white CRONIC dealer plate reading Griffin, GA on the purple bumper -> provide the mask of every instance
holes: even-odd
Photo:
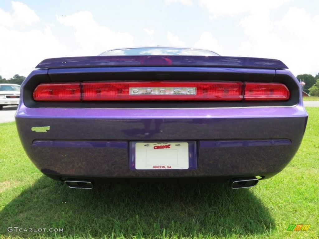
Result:
[[[135,143],[135,169],[189,169],[189,143],[137,142]]]

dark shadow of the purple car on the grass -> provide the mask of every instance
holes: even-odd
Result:
[[[82,190],[42,176],[2,208],[1,235],[262,238],[275,222],[252,190],[208,183],[96,185]],[[9,232],[8,227],[19,228]],[[63,228],[63,232],[55,234],[49,228]]]

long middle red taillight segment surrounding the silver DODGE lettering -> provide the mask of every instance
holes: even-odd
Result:
[[[83,83],[83,100],[241,100],[242,83]]]

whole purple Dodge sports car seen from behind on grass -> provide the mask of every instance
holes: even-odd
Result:
[[[195,179],[245,188],[290,162],[308,114],[281,61],[138,47],[42,61],[15,117],[35,166],[72,188]]]

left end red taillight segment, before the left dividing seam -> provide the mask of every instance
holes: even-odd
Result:
[[[80,101],[80,83],[43,83],[33,91],[37,101]]]

